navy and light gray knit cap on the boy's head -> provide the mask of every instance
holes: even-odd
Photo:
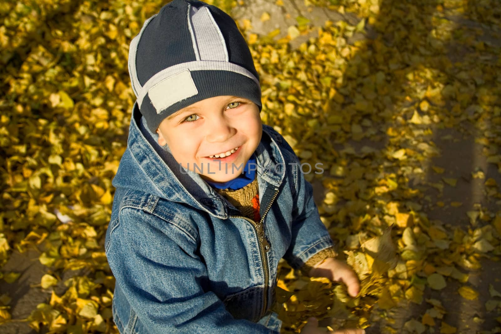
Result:
[[[196,0],[173,0],[144,23],[130,44],[129,75],[152,132],[179,109],[214,96],[262,107],[259,75],[235,22]]]

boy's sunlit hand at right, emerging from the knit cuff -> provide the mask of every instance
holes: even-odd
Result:
[[[348,293],[356,297],[360,291],[360,282],[353,269],[343,261],[328,257],[317,263],[309,273],[310,276],[327,277],[330,280],[343,282],[348,287]]]

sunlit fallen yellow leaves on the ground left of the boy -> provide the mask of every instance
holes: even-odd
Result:
[[[134,102],[128,46],[161,6],[66,0],[0,5],[0,264],[13,249],[40,247],[39,260],[48,268],[32,288],[49,291],[61,285],[65,271],[78,270],[63,296],[53,292],[50,303],[33,310],[34,328],[117,331],[114,280],[102,241]],[[3,279],[13,282],[19,274],[4,272]],[[11,317],[8,298],[0,297],[0,322]]]

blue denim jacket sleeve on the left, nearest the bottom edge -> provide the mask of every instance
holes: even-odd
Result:
[[[150,333],[274,333],[234,319],[202,288],[207,269],[197,242],[182,226],[124,208],[106,247],[108,262],[127,301]]]

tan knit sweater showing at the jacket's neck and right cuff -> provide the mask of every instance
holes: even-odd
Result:
[[[255,178],[254,181],[250,182],[243,188],[237,190],[231,189],[216,189],[220,195],[228,200],[235,208],[240,211],[242,216],[245,216],[249,219],[254,220],[255,222],[259,222],[261,220],[261,216],[259,213],[260,205],[259,205],[259,188],[258,188],[258,179]],[[325,260],[328,257],[336,257],[337,253],[333,247],[329,247],[321,250],[317,254],[313,255],[311,258],[306,261],[306,263],[300,268],[301,272],[304,275],[308,275],[310,270],[315,266],[315,264],[320,261]]]

